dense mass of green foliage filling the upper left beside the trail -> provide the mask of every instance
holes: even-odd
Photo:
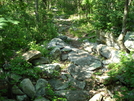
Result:
[[[39,1],[37,22],[34,5],[34,1],[14,0],[0,6],[0,66],[4,58],[10,61],[13,51],[25,51],[31,42],[49,41],[57,36],[52,12],[44,9],[43,2]]]

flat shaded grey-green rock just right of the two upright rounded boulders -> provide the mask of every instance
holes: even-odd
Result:
[[[59,79],[51,79],[49,80],[49,83],[55,90],[64,90],[69,87],[69,82],[65,82]]]

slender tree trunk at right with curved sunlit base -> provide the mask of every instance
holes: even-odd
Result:
[[[122,32],[119,35],[117,42],[118,45],[120,47],[121,50],[124,50],[126,52],[129,52],[128,49],[125,47],[124,45],[124,37],[127,33],[127,28],[126,28],[126,24],[127,24],[127,16],[128,16],[128,5],[129,5],[129,0],[125,1],[125,6],[124,6],[124,15],[123,15],[123,20],[122,20]]]

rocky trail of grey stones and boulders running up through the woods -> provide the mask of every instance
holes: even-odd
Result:
[[[70,19],[58,17],[56,20],[61,34],[52,39],[47,47],[42,47],[50,50],[52,59],[57,61],[50,62],[41,52],[35,50],[24,53],[25,60],[47,75],[36,82],[24,78],[20,87],[14,85],[12,88],[17,100],[2,101],[30,101],[28,98],[34,98],[33,101],[50,101],[46,89],[48,84],[57,96],[65,97],[67,101],[116,101],[113,92],[120,87],[105,85],[105,80],[109,78],[108,64],[120,61],[120,51],[87,40],[79,41],[79,38],[68,33],[72,25]],[[18,80],[20,78],[12,77]]]

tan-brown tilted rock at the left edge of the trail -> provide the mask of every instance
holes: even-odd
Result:
[[[32,61],[34,59],[40,58],[42,56],[40,51],[30,50],[22,55],[25,60]]]

